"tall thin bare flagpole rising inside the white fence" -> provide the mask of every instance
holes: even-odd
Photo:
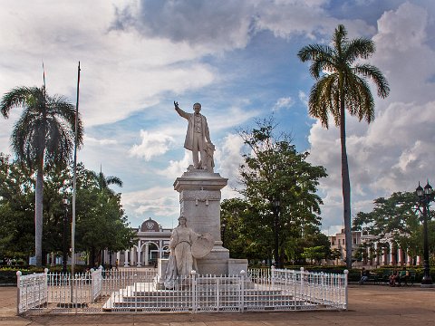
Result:
[[[74,166],[73,166],[73,223],[71,225],[71,274],[74,278],[75,269],[75,193],[77,187],[77,141],[79,124],[79,88],[80,88],[80,62],[77,68],[77,102],[75,105],[75,131],[74,131]],[[72,289],[73,290],[73,289]],[[71,291],[71,301],[73,302],[73,291]]]

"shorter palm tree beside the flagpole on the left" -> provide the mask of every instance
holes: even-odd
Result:
[[[36,265],[42,266],[43,169],[66,164],[72,155],[75,107],[62,96],[47,96],[45,87],[17,87],[0,103],[7,119],[9,111],[23,108],[11,135],[11,147],[18,161],[36,172],[34,206],[34,251]],[[77,126],[78,144],[82,144],[82,122]]]

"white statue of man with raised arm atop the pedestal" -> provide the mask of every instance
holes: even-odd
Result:
[[[213,155],[214,145],[210,140],[210,133],[208,131],[207,119],[199,113],[201,104],[193,104],[194,113],[188,113],[179,109],[179,103],[174,101],[175,110],[179,113],[180,117],[189,121],[186,139],[184,141],[184,148],[192,151],[193,167],[199,169],[210,169],[211,163],[209,154]],[[198,152],[201,160],[199,161]],[[211,160],[213,157],[211,158]],[[210,172],[213,172],[212,170]]]

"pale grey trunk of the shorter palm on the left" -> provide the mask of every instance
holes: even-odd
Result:
[[[34,189],[34,254],[36,266],[43,265],[43,166],[36,171],[36,186]]]

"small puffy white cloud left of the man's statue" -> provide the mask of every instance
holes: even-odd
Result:
[[[163,155],[169,150],[174,139],[158,131],[140,130],[140,145],[133,145],[130,149],[132,156],[150,160],[153,157]]]

